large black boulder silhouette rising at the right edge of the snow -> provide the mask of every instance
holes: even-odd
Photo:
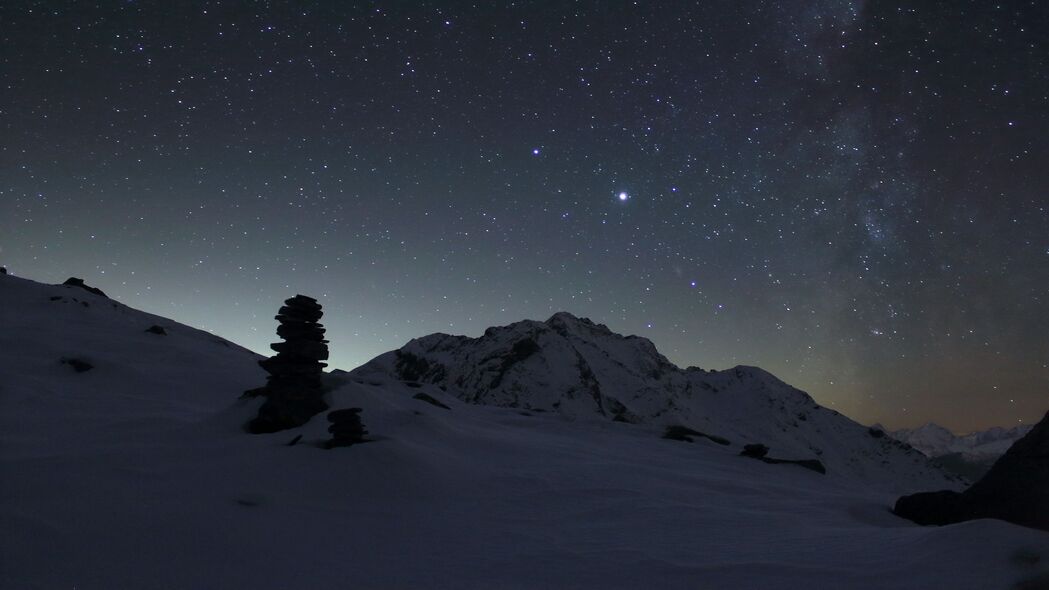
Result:
[[[1049,530],[1049,413],[965,491],[904,496],[893,512],[920,525],[1000,519]]]

